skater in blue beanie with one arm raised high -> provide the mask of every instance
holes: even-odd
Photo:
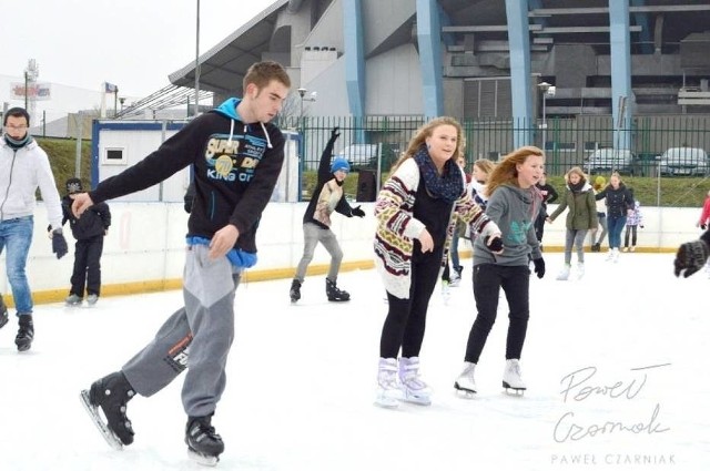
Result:
[[[349,163],[342,157],[333,158],[333,146],[341,135],[338,129],[331,131],[331,139],[321,154],[318,164],[318,181],[313,191],[313,197],[305,214],[303,215],[303,257],[296,268],[296,275],[291,283],[291,303],[301,299],[301,285],[306,276],[308,264],[313,260],[313,254],[318,243],[323,244],[331,254],[331,267],[325,277],[325,295],[329,301],[347,301],[351,299],[349,293],[337,287],[337,273],[343,260],[343,250],[337,243],[337,238],[331,231],[331,214],[341,213],[347,217],[364,217],[365,212],[359,206],[351,207],[345,198],[343,183],[351,171]]]

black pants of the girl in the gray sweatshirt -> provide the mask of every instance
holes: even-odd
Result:
[[[496,321],[500,288],[508,301],[508,339],[506,359],[520,358],[528,330],[530,270],[527,266],[494,264],[474,267],[474,297],[478,315],[468,334],[466,361],[477,364],[486,345],[488,332]]]

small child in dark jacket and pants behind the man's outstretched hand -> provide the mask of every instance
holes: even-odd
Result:
[[[111,225],[111,211],[105,203],[91,206],[81,218],[71,213],[73,199],[70,195],[81,193],[81,180],[67,180],[67,195],[62,198],[62,226],[69,221],[71,233],[77,239],[74,246],[74,272],[71,275],[71,289],[64,300],[67,306],[78,306],[84,298],[93,306],[101,295],[101,254],[103,253],[103,237]]]

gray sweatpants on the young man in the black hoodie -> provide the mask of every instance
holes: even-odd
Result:
[[[213,413],[224,392],[224,369],[234,339],[234,291],[242,272],[226,257],[209,259],[207,252],[204,245],[187,247],[184,307],[122,368],[135,391],[145,397],[186,368],[182,403],[191,417]]]

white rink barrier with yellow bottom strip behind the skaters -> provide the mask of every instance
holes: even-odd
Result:
[[[359,203],[358,203],[359,204]],[[101,296],[124,296],[139,293],[180,289],[184,268],[187,214],[182,202],[144,203],[109,202],[112,225],[104,239],[101,259]],[[245,283],[291,279],[303,254],[302,219],[307,203],[272,203],[260,222],[258,263],[246,272]],[[364,218],[333,215],[332,229],[343,249],[341,272],[371,269],[375,219],[373,203],[363,203]],[[556,205],[550,205],[551,213]],[[638,229],[637,253],[674,253],[678,245],[698,237],[694,226],[700,208],[645,207],[645,228]],[[565,218],[546,224],[545,253],[564,248]],[[60,303],[69,295],[69,278],[73,268],[74,239],[64,226],[69,254],[58,260],[47,237],[47,213],[39,204],[34,214],[34,234],[27,274],[36,304]],[[587,238],[587,243],[588,243]],[[605,239],[601,252],[607,250]],[[589,252],[587,244],[586,250]],[[471,256],[468,242],[459,243],[463,259]],[[4,270],[4,252],[0,255],[0,294],[12,306],[12,296]],[[327,273],[331,257],[318,246],[307,276]]]

